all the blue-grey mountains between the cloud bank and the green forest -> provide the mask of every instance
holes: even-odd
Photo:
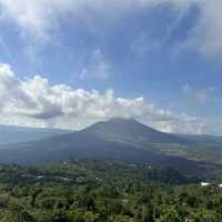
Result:
[[[7,131],[1,128],[4,135],[0,133],[0,142],[1,138],[4,138],[4,143],[8,141],[8,144],[0,145],[1,163],[39,164],[67,159],[112,159],[172,167],[190,174],[222,172],[219,164],[222,163],[222,143],[219,141],[160,132],[131,119],[111,119],[75,132],[27,128],[13,130],[9,128],[11,137],[6,140]],[[16,131],[18,134],[13,138]],[[9,144],[19,140],[23,141]]]

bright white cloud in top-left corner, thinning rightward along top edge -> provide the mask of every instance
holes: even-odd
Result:
[[[50,31],[58,24],[60,17],[71,14],[71,19],[91,22],[115,20],[128,11],[154,2],[153,0],[0,0],[4,19],[12,19],[22,29],[23,34],[38,39],[48,39]]]

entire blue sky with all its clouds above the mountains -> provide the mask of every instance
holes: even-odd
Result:
[[[0,0],[0,124],[132,118],[222,135],[220,0]]]

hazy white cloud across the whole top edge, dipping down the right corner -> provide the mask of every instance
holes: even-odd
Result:
[[[124,17],[162,4],[171,6],[175,13],[196,6],[200,18],[193,21],[194,28],[181,44],[204,56],[222,53],[222,2],[219,0],[0,0],[1,22],[11,19],[21,36],[31,36],[41,42],[47,42],[59,29],[63,17],[73,23],[81,20],[88,29],[93,29],[105,23],[110,27],[110,22],[122,22]]]

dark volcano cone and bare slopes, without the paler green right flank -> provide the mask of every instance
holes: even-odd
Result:
[[[193,144],[192,140],[162,133],[134,120],[113,119],[85,130],[41,141],[1,145],[1,163],[39,164],[72,159],[112,159],[134,163],[147,162],[160,168],[171,167],[189,175],[211,176],[221,167],[179,157],[161,154],[154,143]],[[144,149],[149,147],[149,149]]]

